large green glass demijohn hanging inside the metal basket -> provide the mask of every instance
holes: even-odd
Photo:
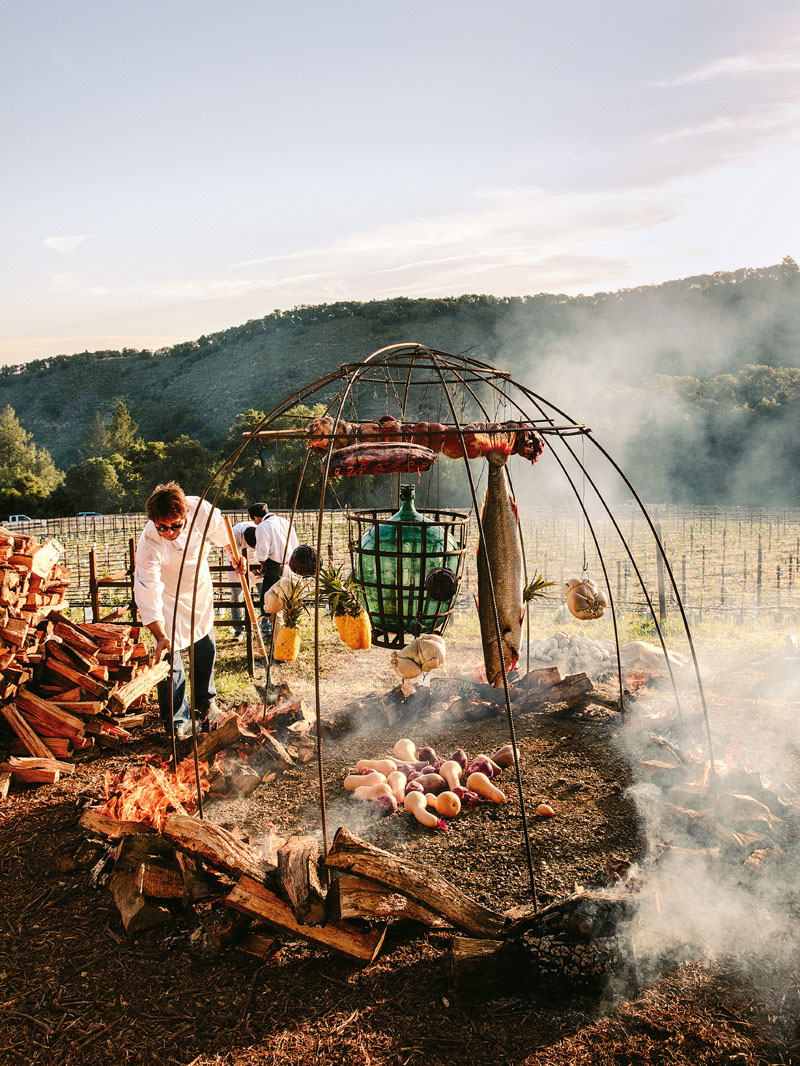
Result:
[[[361,538],[356,580],[372,625],[383,632],[432,633],[443,628],[450,600],[432,599],[425,579],[439,567],[461,569],[459,546],[441,522],[414,506],[414,486],[400,486],[397,514],[373,523]]]

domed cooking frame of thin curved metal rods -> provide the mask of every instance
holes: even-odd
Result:
[[[402,381],[402,372],[405,371],[405,379]],[[299,389],[297,392],[287,397],[279,404],[277,404],[273,409],[265,415],[258,425],[243,434],[242,443],[220,465],[220,467],[214,471],[214,473],[209,479],[206,488],[201,497],[202,500],[208,500],[212,506],[217,505],[222,491],[224,490],[233,471],[236,468],[242,452],[253,440],[290,440],[297,439],[306,441],[307,434],[305,430],[270,430],[269,426],[282,415],[285,415],[290,408],[297,406],[300,403],[314,397],[316,393],[320,393],[324,390],[330,389],[335,386],[336,383],[341,383],[338,391],[334,392],[333,398],[329,401],[325,407],[325,414],[332,414],[334,418],[334,426],[330,434],[330,439],[333,442],[337,435],[337,431],[340,422],[342,421],[342,413],[348,401],[353,402],[353,393],[359,385],[366,384],[379,384],[386,386],[387,398],[388,398],[388,386],[393,387],[396,400],[399,407],[400,420],[404,420],[406,408],[409,405],[409,398],[411,390],[413,388],[434,387],[441,392],[447,406],[449,407],[450,416],[452,419],[452,424],[455,426],[458,432],[459,440],[462,450],[462,461],[466,469],[467,479],[469,482],[469,490],[473,500],[473,506],[475,508],[475,517],[478,526],[479,532],[479,545],[483,550],[483,559],[486,566],[486,571],[489,574],[489,585],[492,601],[492,614],[494,618],[495,631],[498,644],[500,642],[500,625],[497,613],[497,603],[495,599],[494,591],[494,579],[492,576],[492,568],[487,558],[485,537],[483,536],[483,528],[481,522],[481,513],[478,502],[477,489],[475,484],[475,479],[473,477],[469,459],[467,457],[466,442],[464,438],[464,424],[463,420],[459,418],[459,409],[457,405],[457,398],[460,399],[462,410],[464,409],[467,402],[471,403],[474,408],[481,413],[486,421],[492,421],[489,410],[486,409],[484,401],[478,394],[477,389],[479,387],[489,390],[489,394],[493,395],[496,401],[503,404],[511,405],[513,409],[518,413],[518,423],[524,427],[529,427],[535,430],[542,435],[544,439],[545,447],[549,455],[556,461],[558,467],[566,480],[572,494],[580,507],[580,511],[586,522],[586,528],[592,538],[595,550],[597,552],[597,558],[599,560],[601,568],[603,571],[603,577],[606,585],[606,591],[608,594],[609,609],[611,612],[611,620],[614,633],[614,644],[617,647],[617,678],[619,684],[619,709],[624,711],[625,709],[625,690],[622,678],[622,665],[620,662],[620,639],[619,639],[619,628],[618,628],[618,614],[617,604],[614,603],[613,589],[611,587],[611,581],[609,578],[608,569],[606,566],[606,561],[603,554],[603,549],[601,547],[597,531],[590,517],[590,514],[586,506],[586,501],[583,499],[583,494],[576,484],[573,475],[567,469],[566,463],[574,464],[577,468],[578,473],[581,477],[583,485],[589,485],[599,502],[603,511],[610,519],[611,526],[619,537],[619,542],[622,545],[627,559],[630,562],[636,579],[642,589],[650,617],[654,624],[656,634],[658,636],[661,650],[665,656],[667,671],[669,674],[670,685],[672,689],[672,694],[675,700],[676,713],[678,720],[683,724],[683,712],[681,708],[681,698],[677,691],[677,684],[675,681],[675,676],[672,669],[672,663],[667,651],[667,645],[665,642],[663,631],[660,621],[657,617],[656,611],[653,607],[653,601],[647,591],[644,578],[641,572],[641,568],[637,562],[634,551],[625,537],[622,529],[620,528],[619,521],[617,520],[611,505],[602,492],[601,488],[597,486],[595,480],[591,477],[587,466],[583,462],[582,456],[578,455],[571,443],[571,438],[579,436],[582,441],[588,440],[591,446],[596,449],[598,455],[607,463],[614,474],[620,479],[622,484],[630,494],[636,506],[643,516],[650,532],[653,536],[653,542],[656,545],[656,550],[658,556],[663,563],[666,574],[668,575],[669,583],[674,596],[675,602],[677,604],[683,630],[685,637],[688,643],[691,661],[693,665],[694,679],[697,683],[697,691],[700,698],[700,704],[702,707],[706,744],[708,749],[708,761],[709,761],[709,787],[711,789],[711,794],[716,796],[717,794],[717,773],[716,763],[714,757],[714,745],[711,741],[710,731],[710,721],[708,715],[708,708],[705,698],[705,692],[703,688],[703,680],[700,672],[700,664],[698,661],[697,650],[694,647],[694,642],[691,635],[691,629],[689,626],[689,620],[686,615],[686,610],[681,597],[681,593],[675,581],[675,577],[670,565],[667,552],[665,550],[663,544],[659,536],[658,530],[647,513],[647,508],[642,501],[641,497],[637,492],[636,488],[622,470],[620,465],[612,458],[609,452],[595,439],[591,429],[583,423],[576,422],[570,418],[563,410],[557,407],[555,404],[550,403],[548,400],[533,392],[531,389],[514,381],[510,373],[507,371],[497,370],[496,368],[490,366],[489,364],[481,362],[478,359],[468,357],[466,355],[452,355],[447,352],[442,352],[436,349],[428,348],[425,344],[417,342],[401,342],[389,344],[385,348],[379,349],[368,356],[362,362],[346,364],[341,366],[337,371],[329,373],[323,377],[318,378],[315,382],[309,383],[303,388]],[[400,395],[402,391],[402,397]],[[333,448],[329,447],[324,453],[322,463],[322,479],[320,486],[320,501],[317,517],[317,570],[315,575],[315,586],[314,586],[314,667],[315,667],[315,713],[317,722],[317,771],[319,778],[319,802],[320,802],[320,815],[321,815],[321,829],[322,829],[322,847],[324,856],[327,855],[327,815],[326,815],[326,804],[325,804],[325,782],[324,782],[324,760],[323,760],[323,743],[322,743],[322,730],[320,728],[320,680],[319,680],[319,625],[320,625],[320,594],[319,594],[319,575],[320,575],[320,560],[322,555],[322,529],[323,529],[323,517],[325,511],[325,497],[329,485],[329,473],[331,467],[331,456]],[[565,453],[562,454],[561,452]],[[298,510],[298,501],[300,498],[300,491],[305,478],[307,465],[309,457],[311,455],[310,449],[307,450],[306,455],[303,459],[302,469],[300,478],[298,480],[298,486],[294,494],[294,499],[292,502],[291,515],[289,522],[291,526],[294,523],[294,516]],[[565,462],[566,461],[566,462]],[[513,485],[511,483],[511,474],[507,471],[509,475],[509,485],[513,492]],[[398,479],[399,484],[399,479]],[[197,523],[197,516],[199,514],[199,508],[197,508],[192,516],[191,523],[188,530],[188,536],[192,535],[192,532]],[[208,517],[205,519],[202,529],[202,545],[205,546],[208,529],[211,521],[212,512],[209,510]],[[523,551],[523,566],[525,581],[528,581],[527,571],[527,561],[525,559],[525,547],[524,538],[522,535],[522,530],[519,530],[519,544]],[[283,563],[286,563],[286,549],[284,551]],[[178,574],[177,587],[176,587],[176,601],[177,597],[180,595],[181,583],[183,580],[183,560],[181,560],[181,566]],[[194,629],[194,618],[196,613],[196,597],[197,597],[197,581],[198,575],[195,575],[195,579],[192,587],[192,602],[191,602],[191,625],[192,630]],[[527,636],[528,636],[528,667],[530,664],[530,612],[526,612],[527,618]],[[172,632],[171,632],[171,643],[174,645],[175,639],[175,619],[173,620]],[[274,637],[273,637],[274,639]],[[270,644],[271,650],[271,644]],[[525,840],[528,873],[530,877],[531,893],[537,903],[537,890],[535,890],[535,876],[533,872],[533,862],[531,857],[530,839],[528,834],[528,823],[526,815],[525,796],[523,791],[522,776],[519,772],[519,763],[517,758],[517,742],[516,742],[516,728],[514,724],[514,711],[511,704],[511,697],[509,694],[509,678],[507,673],[506,663],[503,657],[500,656],[500,664],[502,672],[502,691],[506,706],[506,714],[509,723],[509,736],[510,742],[514,752],[514,763],[516,772],[516,791],[519,801],[519,810],[522,819],[523,836]],[[270,661],[269,655],[267,662],[265,664],[266,668],[266,680],[267,687],[269,688],[270,679]],[[199,779],[199,764],[197,758],[197,720],[196,720],[196,709],[194,705],[194,652],[193,645],[189,646],[189,676],[190,676],[190,715],[192,721],[192,733],[193,733],[193,756],[194,756],[194,772],[195,772],[195,784],[197,789],[197,808],[199,817],[204,817],[203,812],[203,793]],[[266,700],[265,693],[265,700]],[[172,699],[172,690],[171,690]],[[266,705],[265,705],[266,706]],[[174,724],[172,723],[172,715],[170,716],[172,725],[172,746],[173,746],[173,759],[174,764],[177,765],[177,744],[175,737]]]

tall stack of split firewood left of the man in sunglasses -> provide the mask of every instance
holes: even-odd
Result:
[[[62,552],[52,537],[0,527],[0,795],[12,780],[57,781],[74,772],[76,753],[128,740],[142,722],[135,710],[169,673],[140,627],[66,617]]]

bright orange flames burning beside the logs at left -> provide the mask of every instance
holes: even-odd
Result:
[[[209,788],[209,768],[199,763],[199,781],[204,792]],[[183,759],[176,773],[155,756],[140,765],[128,766],[121,774],[107,773],[103,782],[105,803],[96,808],[123,822],[144,822],[160,830],[170,811],[193,813],[197,807],[194,761]]]

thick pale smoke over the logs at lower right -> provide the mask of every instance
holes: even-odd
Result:
[[[796,966],[800,957],[800,802],[793,784],[798,705],[764,698],[770,677],[767,669],[761,698],[714,704],[716,802],[713,788],[677,780],[679,770],[669,782],[642,779],[627,790],[647,841],[630,928],[645,980],[684,960],[713,959],[757,985],[765,972]],[[707,757],[702,723],[693,733],[674,718],[654,728],[692,760],[689,776],[699,775]],[[678,762],[654,747],[651,736],[635,715],[620,738],[640,777],[641,760]]]

